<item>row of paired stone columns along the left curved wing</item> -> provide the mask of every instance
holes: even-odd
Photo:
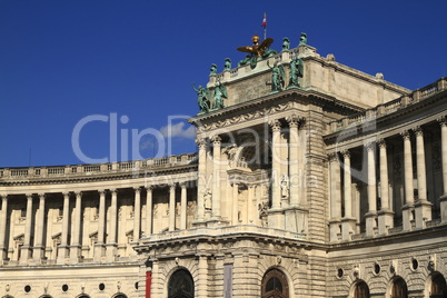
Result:
[[[177,187],[181,189],[180,197],[180,222],[176,226],[176,189]],[[153,201],[152,201],[152,192],[156,186],[146,187],[146,226],[141,226],[141,187],[133,188],[133,242],[138,242],[141,235],[141,229],[145,230],[146,236],[150,236],[152,234],[153,227]],[[96,190],[95,190],[96,191]],[[118,247],[118,193],[120,189],[100,189],[99,193],[99,207],[98,207],[98,236],[95,242],[95,261],[113,261],[117,256],[117,247]],[[81,239],[81,229],[82,225],[86,225],[82,219],[82,200],[87,191],[66,191],[59,192],[63,196],[63,206],[62,206],[62,222],[61,222],[61,232],[60,232],[60,245],[53,249],[58,249],[57,254],[57,262],[66,264],[71,262],[76,264],[79,261],[79,258],[82,254],[82,239]],[[89,190],[88,192],[91,192]],[[106,201],[107,193],[110,192],[110,209],[109,217],[106,217]],[[24,232],[23,232],[23,245],[20,246],[20,265],[28,265],[30,261],[39,262],[44,257],[46,246],[50,245],[46,244],[44,240],[44,231],[46,231],[46,217],[48,213],[46,212],[46,199],[48,195],[38,193],[39,197],[39,206],[33,217],[33,198],[36,193],[27,193],[26,201],[26,218],[24,218]],[[19,195],[19,193],[18,193]],[[54,193],[51,193],[54,195]],[[21,196],[21,195],[19,195]],[[70,218],[70,198],[74,196],[74,208]],[[1,211],[0,211],[0,257],[1,260],[8,257],[8,244],[7,239],[7,229],[8,227],[8,202],[11,200],[12,195],[2,195],[1,199]],[[14,199],[17,196],[14,196]],[[47,208],[48,209],[48,208]],[[11,220],[10,225],[14,225]],[[72,227],[72,230],[69,231],[69,227]],[[32,228],[36,226],[33,232]],[[169,231],[173,231],[177,229],[186,229],[187,227],[187,183],[171,183],[169,185]],[[107,236],[107,238],[106,238]],[[33,241],[32,241],[33,237]],[[69,241],[70,239],[70,241]],[[107,241],[106,241],[107,239]]]

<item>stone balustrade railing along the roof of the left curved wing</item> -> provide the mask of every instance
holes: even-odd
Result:
[[[135,170],[149,170],[152,168],[168,168],[172,166],[186,166],[197,159],[197,153],[185,153],[163,158],[153,158],[135,161],[110,162],[99,165],[69,165],[57,167],[29,167],[29,168],[0,168],[0,179],[30,179],[48,177],[70,177],[86,175],[103,175],[112,172],[126,172]]]

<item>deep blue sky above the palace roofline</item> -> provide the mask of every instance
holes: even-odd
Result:
[[[264,12],[274,49],[306,32],[321,56],[424,87],[447,76],[446,11],[430,0],[1,0],[0,167],[82,163],[71,140],[82,119],[97,119],[79,131],[91,160],[132,159],[136,146],[153,157],[150,132],[169,123],[172,153],[196,151],[181,120],[198,112],[191,83],[206,85],[211,63],[220,72],[225,58],[244,59],[236,48],[262,33]]]

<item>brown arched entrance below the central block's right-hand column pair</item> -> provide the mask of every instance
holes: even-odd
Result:
[[[270,269],[262,278],[261,298],[289,298],[289,284],[286,275],[278,269]]]

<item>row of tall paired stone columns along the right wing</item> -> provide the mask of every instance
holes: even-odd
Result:
[[[447,222],[447,127],[446,118],[438,119],[441,129],[441,172],[444,196],[434,198],[440,200],[441,221]],[[414,135],[415,141],[411,136]],[[420,126],[414,127],[400,132],[403,141],[403,160],[404,160],[404,198],[405,203],[401,207],[403,213],[403,230],[426,228],[427,221],[431,220],[433,203],[427,198],[427,173],[426,173],[426,153],[424,142],[424,131]],[[413,143],[414,142],[414,143]],[[417,182],[414,182],[414,161],[411,148],[416,147],[416,176]],[[376,151],[378,148],[378,160],[376,162]],[[356,234],[356,224],[359,221],[358,203],[356,203],[352,193],[352,175],[351,175],[351,149],[345,149],[339,152],[334,152],[328,156],[329,160],[329,192],[330,192],[330,240],[350,240]],[[388,230],[394,227],[393,198],[389,193],[389,169],[388,169],[388,152],[387,139],[367,140],[364,143],[362,165],[364,173],[356,178],[366,183],[368,211],[365,213],[365,235],[374,237],[377,235],[387,235]],[[339,155],[342,156],[340,162]],[[378,179],[380,188],[377,187],[376,165],[378,166]],[[365,170],[366,169],[366,170]],[[341,185],[340,170],[344,171]],[[359,177],[360,176],[360,177]],[[365,179],[366,178],[366,179]],[[341,187],[344,189],[344,201],[341,202]],[[415,189],[417,190],[415,192]],[[377,210],[377,191],[380,191],[380,210]],[[417,200],[415,200],[417,193]],[[341,209],[344,206],[344,215]],[[357,208],[354,210],[352,206]],[[357,216],[355,213],[358,213]],[[340,237],[341,236],[341,237]]]

